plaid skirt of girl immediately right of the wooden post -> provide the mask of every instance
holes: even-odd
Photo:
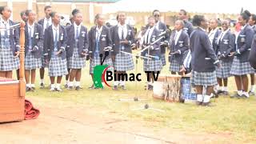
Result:
[[[25,70],[34,70],[42,67],[41,58],[34,58],[34,54],[28,53],[25,57]]]

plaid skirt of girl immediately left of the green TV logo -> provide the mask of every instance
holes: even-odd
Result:
[[[78,54],[78,48],[74,48],[72,57],[67,58],[67,68],[69,69],[82,69],[86,66],[86,57],[82,58]]]

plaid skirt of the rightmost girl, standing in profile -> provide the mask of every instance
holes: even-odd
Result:
[[[254,74],[254,69],[250,66],[249,62],[240,62],[237,57],[234,57],[230,74],[232,75]]]

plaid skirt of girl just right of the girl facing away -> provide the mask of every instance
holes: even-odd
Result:
[[[217,78],[229,78],[231,76],[230,70],[233,62],[223,62],[222,60],[220,60],[219,62],[222,67],[217,68],[216,70]]]

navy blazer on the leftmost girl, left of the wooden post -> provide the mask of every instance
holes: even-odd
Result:
[[[13,26],[17,24],[16,22],[13,22],[9,20],[9,25]],[[1,42],[1,37],[0,37]],[[14,56],[16,55],[15,52],[19,51],[21,46],[19,45],[19,29],[10,29],[10,49],[13,51]]]

